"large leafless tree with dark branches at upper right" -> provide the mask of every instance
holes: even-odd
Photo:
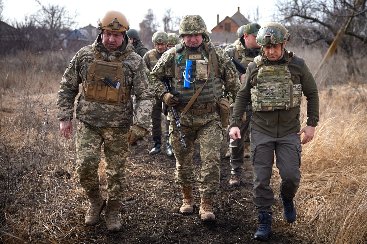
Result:
[[[349,74],[358,72],[355,60],[367,54],[366,0],[278,0],[277,7],[293,40],[327,49],[342,31],[337,50],[349,57]]]

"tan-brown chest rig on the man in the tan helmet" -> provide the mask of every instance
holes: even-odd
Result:
[[[88,69],[87,80],[83,84],[84,100],[100,102],[102,104],[119,105],[130,99],[132,87],[124,85],[124,71],[120,65],[130,53],[116,57],[112,62],[103,61],[102,54],[97,48],[93,48],[96,60]],[[120,87],[107,85],[103,79],[109,77],[113,82],[120,82]]]

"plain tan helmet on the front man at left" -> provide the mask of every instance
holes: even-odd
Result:
[[[102,18],[98,18],[98,30],[109,30],[124,32],[130,29],[129,22],[125,15],[119,11],[107,11]]]

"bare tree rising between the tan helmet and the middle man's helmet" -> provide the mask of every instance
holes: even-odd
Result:
[[[139,23],[139,37],[140,40],[148,49],[153,49],[154,45],[152,43],[152,36],[158,30],[159,23],[157,22],[157,17],[150,8],[148,13],[144,15],[144,19]]]

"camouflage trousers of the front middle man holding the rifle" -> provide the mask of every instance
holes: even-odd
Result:
[[[178,111],[180,113],[180,111]],[[168,115],[170,124],[169,142],[176,158],[176,183],[181,187],[193,185],[195,172],[193,155],[195,142],[200,144],[201,170],[197,177],[200,184],[200,198],[214,198],[219,187],[219,152],[222,146],[223,131],[217,112],[200,116],[186,113],[180,118],[182,134],[185,135],[187,149],[183,149],[175,121]]]

